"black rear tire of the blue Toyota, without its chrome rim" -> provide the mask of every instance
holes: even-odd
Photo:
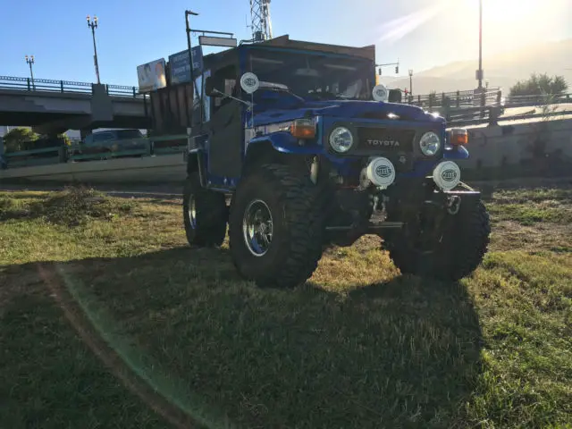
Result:
[[[182,213],[189,244],[205,247],[223,244],[228,220],[224,194],[203,188],[198,172],[192,172],[184,183],[182,198]],[[195,226],[191,223],[189,214],[190,198],[195,198]]]

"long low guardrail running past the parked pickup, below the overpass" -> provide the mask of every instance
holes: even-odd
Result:
[[[186,134],[178,134],[145,139],[113,140],[102,145],[72,144],[71,146],[6,152],[2,156],[5,163],[3,168],[99,161],[119,157],[180,154],[187,147],[187,138]],[[128,143],[135,148],[123,148]]]

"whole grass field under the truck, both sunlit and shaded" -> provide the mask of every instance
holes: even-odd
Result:
[[[297,290],[189,248],[178,201],[87,197],[0,193],[0,427],[572,427],[570,189],[495,191],[462,282],[368,236]]]

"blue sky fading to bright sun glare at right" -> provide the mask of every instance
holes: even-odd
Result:
[[[572,0],[483,0],[484,56],[572,38]],[[137,66],[186,47],[191,27],[250,38],[249,0],[19,0],[0,7],[0,75],[96,81],[86,15],[97,15],[103,83],[137,85]],[[400,75],[457,60],[478,64],[478,0],[272,0],[273,36],[376,46],[377,63],[400,61]],[[8,40],[10,42],[8,42]],[[193,38],[193,44],[197,44]],[[205,53],[213,48],[206,47]],[[392,67],[383,75],[395,76]]]

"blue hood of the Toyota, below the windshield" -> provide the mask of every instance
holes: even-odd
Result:
[[[255,104],[257,102],[255,101]],[[255,125],[286,122],[307,116],[332,116],[348,119],[389,119],[388,114],[399,116],[401,121],[445,122],[441,116],[425,112],[416,105],[383,103],[361,100],[297,101],[290,104],[265,103],[255,106]]]

